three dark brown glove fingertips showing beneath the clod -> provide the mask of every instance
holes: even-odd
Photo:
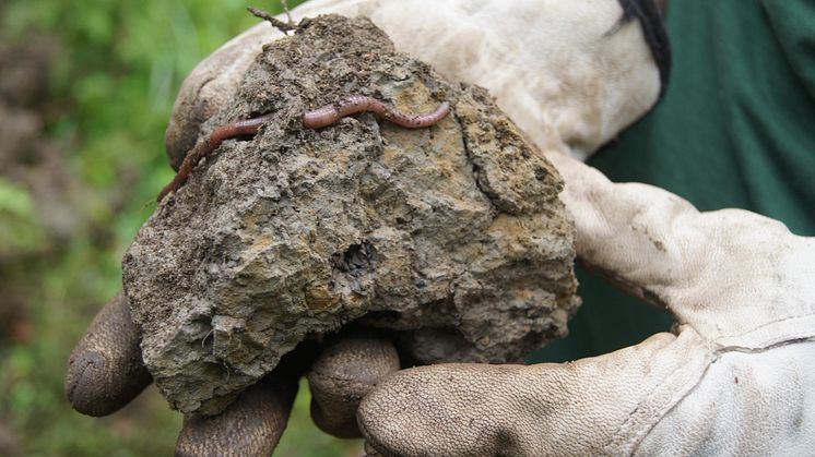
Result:
[[[119,292],[99,311],[69,359],[66,394],[78,411],[110,414],[152,382],[139,341],[139,329]],[[399,370],[399,358],[390,341],[364,333],[345,332],[329,342],[316,359],[308,347],[287,354],[221,414],[186,417],[176,455],[270,455],[307,369],[315,422],[336,436],[359,436],[355,419],[359,400]]]

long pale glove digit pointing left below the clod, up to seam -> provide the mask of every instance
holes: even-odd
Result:
[[[401,371],[359,406],[382,456],[629,455],[701,377],[696,334],[572,363]]]

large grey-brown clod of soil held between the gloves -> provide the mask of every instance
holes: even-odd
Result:
[[[408,112],[304,130],[341,97]],[[355,323],[409,363],[513,362],[579,305],[563,182],[479,87],[395,52],[369,21],[321,16],[267,45],[204,124],[260,113],[165,199],[125,256],[144,362],[174,408],[217,413],[300,341]]]

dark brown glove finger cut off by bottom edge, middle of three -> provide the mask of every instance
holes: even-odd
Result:
[[[185,418],[177,456],[269,456],[286,428],[300,372],[275,370],[218,416]]]

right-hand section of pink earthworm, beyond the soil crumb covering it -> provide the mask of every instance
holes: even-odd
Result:
[[[317,108],[314,111],[306,112],[303,115],[303,127],[306,129],[320,129],[331,125],[346,116],[364,111],[375,112],[380,118],[408,129],[421,129],[445,119],[450,112],[450,104],[445,101],[435,111],[426,115],[408,115],[376,98],[364,95],[352,95],[333,104]]]

